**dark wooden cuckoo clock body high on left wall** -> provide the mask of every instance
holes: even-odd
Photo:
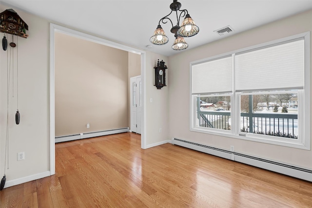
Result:
[[[0,32],[27,38],[28,25],[13,9],[7,9],[0,13]]]

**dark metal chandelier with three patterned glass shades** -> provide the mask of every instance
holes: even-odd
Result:
[[[172,28],[170,32],[175,34],[176,40],[172,45],[172,49],[174,50],[183,50],[186,49],[189,45],[185,42],[185,37],[192,37],[195,36],[199,32],[199,28],[195,25],[195,22],[190,17],[189,12],[186,9],[180,10],[181,3],[174,0],[173,3],[170,4],[171,13],[176,12],[176,26],[174,26],[171,19],[168,18],[169,15],[161,18],[158,22],[158,26],[154,32],[154,35],[150,38],[151,43],[156,45],[163,45],[169,41],[169,38],[165,35],[164,30],[160,26],[160,22],[167,23],[168,20],[172,24]],[[178,11],[180,14],[178,14]],[[179,26],[180,18],[184,18],[181,26]]]

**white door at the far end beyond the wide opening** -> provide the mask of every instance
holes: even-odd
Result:
[[[141,76],[130,78],[130,131],[141,133],[142,118],[142,85]]]

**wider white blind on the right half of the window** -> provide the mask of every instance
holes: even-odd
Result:
[[[304,39],[235,56],[236,90],[304,87]]]

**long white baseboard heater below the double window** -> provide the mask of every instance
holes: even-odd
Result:
[[[173,138],[172,144],[312,182],[312,170]]]

